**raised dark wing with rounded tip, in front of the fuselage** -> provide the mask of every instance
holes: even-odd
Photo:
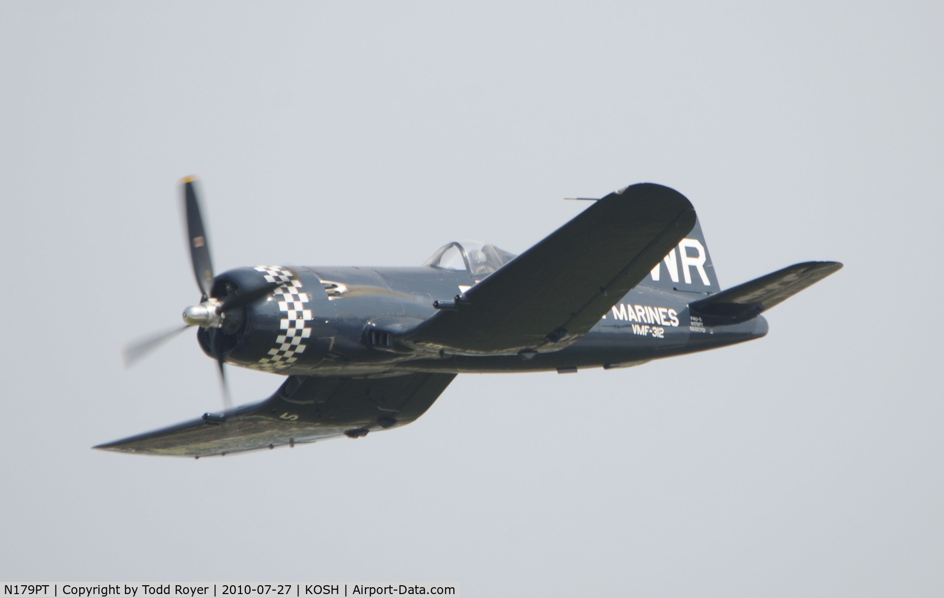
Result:
[[[467,355],[563,349],[639,284],[695,219],[683,194],[662,185],[610,193],[403,341]]]

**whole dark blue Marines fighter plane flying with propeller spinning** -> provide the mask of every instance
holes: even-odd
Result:
[[[95,448],[226,455],[410,424],[456,374],[625,368],[767,334],[761,313],[842,267],[810,261],[721,291],[691,203],[642,183],[614,191],[520,256],[451,242],[422,266],[256,266],[214,275],[183,180],[202,297],[186,325],[126,350],[133,361],[194,326],[227,408]],[[232,408],[225,364],[280,374]]]

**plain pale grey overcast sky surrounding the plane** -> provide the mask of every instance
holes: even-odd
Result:
[[[940,3],[0,5],[0,573],[428,581],[468,596],[944,592]],[[220,407],[177,180],[217,270],[520,252],[682,191],[722,287],[846,264],[766,339],[461,375],[363,440],[93,444]],[[230,368],[237,402],[271,374]]]

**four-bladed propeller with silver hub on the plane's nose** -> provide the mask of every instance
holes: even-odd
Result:
[[[222,297],[214,297],[213,291],[213,264],[210,258],[210,244],[207,242],[207,233],[203,228],[203,217],[200,215],[200,204],[196,199],[194,189],[195,176],[184,178],[183,185],[184,210],[187,217],[187,240],[190,246],[190,257],[194,262],[194,276],[196,285],[200,289],[199,305],[190,306],[183,310],[182,327],[161,332],[146,337],[141,341],[128,344],[125,348],[125,365],[130,366],[142,357],[157,349],[165,341],[177,336],[191,326],[200,326],[207,331],[211,356],[219,366],[220,384],[223,388],[223,405],[227,409],[232,407],[227,385],[227,374],[224,367],[226,350],[223,347],[223,324],[228,312],[245,307],[262,297],[275,291],[283,283],[266,283],[256,289],[236,291]]]

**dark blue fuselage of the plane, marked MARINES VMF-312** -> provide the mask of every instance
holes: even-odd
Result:
[[[703,299],[704,292],[666,290],[665,285],[644,282],[589,333],[559,351],[531,358],[455,355],[399,346],[382,335],[396,337],[396,330],[422,323],[437,312],[434,301],[449,301],[480,282],[467,271],[433,266],[238,268],[220,274],[214,289],[251,288],[261,277],[280,272],[290,273],[295,281],[288,291],[278,291],[231,317],[228,363],[277,374],[325,376],[572,372],[628,367],[767,334],[762,316],[736,324],[706,322],[688,307]],[[201,344],[207,350],[205,337]]]

